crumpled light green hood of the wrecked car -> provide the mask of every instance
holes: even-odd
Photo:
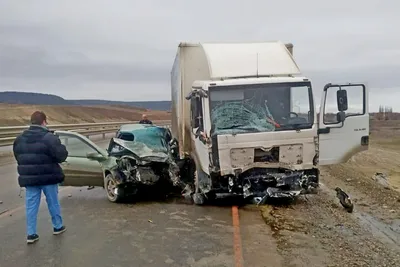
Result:
[[[150,147],[142,142],[125,141],[115,137],[113,141],[131,152],[134,158],[141,161],[170,162],[172,160],[164,144]]]

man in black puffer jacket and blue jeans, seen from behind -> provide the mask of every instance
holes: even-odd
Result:
[[[18,183],[26,188],[27,243],[39,240],[36,232],[37,215],[42,191],[53,223],[53,234],[65,232],[58,201],[58,184],[64,181],[59,165],[66,160],[68,151],[60,139],[46,127],[43,112],[31,116],[31,126],[19,135],[13,145],[14,157],[18,164]]]

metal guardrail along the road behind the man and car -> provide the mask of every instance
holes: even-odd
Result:
[[[121,125],[138,123],[139,121],[124,122],[103,122],[103,123],[81,123],[81,124],[58,124],[48,125],[50,130],[67,130],[78,132],[87,137],[92,135],[105,134],[115,132]],[[170,124],[169,120],[153,121],[155,125],[166,126]],[[7,126],[0,127],[0,147],[11,146],[15,138],[29,126]]]

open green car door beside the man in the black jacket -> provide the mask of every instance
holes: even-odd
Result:
[[[78,133],[56,131],[55,134],[68,151],[66,161],[61,163],[65,174],[62,185],[103,186],[103,169],[98,159],[106,160],[106,152]],[[88,158],[88,155],[92,155],[92,158]]]

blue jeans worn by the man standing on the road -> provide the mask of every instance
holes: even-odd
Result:
[[[27,186],[26,187],[26,225],[27,234],[33,235],[36,233],[37,215],[39,212],[40,198],[42,190],[46,196],[47,207],[51,215],[53,228],[61,228],[63,226],[61,217],[61,207],[58,201],[58,184],[42,185],[42,186]]]

